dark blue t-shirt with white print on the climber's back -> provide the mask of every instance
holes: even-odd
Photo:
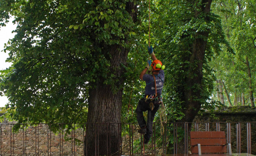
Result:
[[[156,77],[157,94],[162,94],[162,90],[164,86],[164,71],[160,70],[159,74],[155,75],[155,77]],[[155,80],[153,75],[144,74],[143,81],[146,82],[145,95],[156,94]]]

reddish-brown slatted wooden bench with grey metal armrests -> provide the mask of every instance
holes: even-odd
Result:
[[[227,153],[232,154],[231,144],[226,144],[224,131],[194,131],[190,132],[191,153]]]

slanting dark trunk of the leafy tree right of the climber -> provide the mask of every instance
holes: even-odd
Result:
[[[194,3],[197,3],[197,1]],[[208,14],[210,12],[211,3],[212,0],[202,0],[202,6],[195,8],[194,18],[199,18],[198,16],[201,15],[201,13]],[[209,20],[209,17],[206,16],[205,20]],[[184,68],[185,71],[189,71],[184,81],[187,87],[183,91],[184,105],[182,107],[184,108],[183,113],[185,114],[185,117],[178,122],[192,122],[200,110],[202,104],[200,100],[194,99],[202,99],[202,67],[205,59],[205,50],[209,32],[207,30],[198,31],[195,34],[195,39],[191,44],[191,54],[188,58],[189,66]],[[188,128],[191,128],[191,124],[189,124]],[[184,154],[184,142],[179,142],[177,153]]]

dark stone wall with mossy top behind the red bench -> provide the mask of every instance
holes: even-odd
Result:
[[[202,122],[200,129],[205,130],[205,122],[220,122],[220,130],[225,131],[227,135],[227,123],[230,123],[231,129],[231,145],[232,152],[237,153],[237,126],[240,127],[241,133],[241,153],[247,153],[247,122],[251,123],[251,150],[252,154],[256,155],[256,112],[247,113],[232,113],[232,112],[217,112],[212,116],[210,113],[204,113],[203,116],[197,116],[194,122]],[[238,122],[240,125],[237,125]],[[216,123],[209,125],[210,131],[216,131]],[[238,131],[239,132],[239,131]],[[238,143],[239,145],[239,143]],[[239,149],[239,148],[238,148]]]

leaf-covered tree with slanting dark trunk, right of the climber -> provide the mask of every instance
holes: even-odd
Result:
[[[214,75],[208,63],[226,41],[211,5],[211,0],[159,1],[153,11],[153,45],[168,73],[163,90],[168,121],[192,122],[201,108],[212,110],[216,105],[209,99]]]

